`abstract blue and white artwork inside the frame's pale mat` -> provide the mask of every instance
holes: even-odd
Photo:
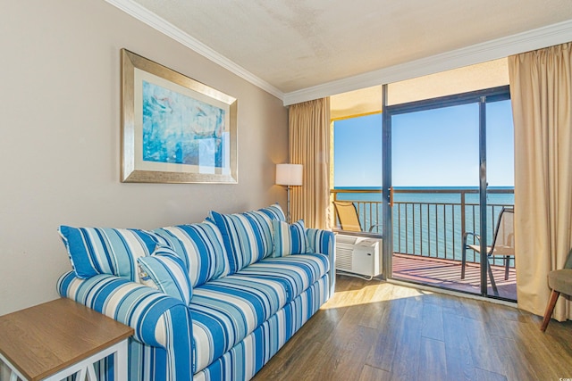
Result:
[[[143,81],[143,161],[223,168],[225,112]]]

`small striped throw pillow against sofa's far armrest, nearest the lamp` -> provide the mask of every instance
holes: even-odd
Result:
[[[274,252],[273,257],[307,253],[307,237],[304,220],[288,222],[273,220]]]

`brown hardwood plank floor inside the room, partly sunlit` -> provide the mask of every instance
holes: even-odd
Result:
[[[572,322],[491,302],[338,276],[336,293],[261,369],[262,380],[559,380]]]

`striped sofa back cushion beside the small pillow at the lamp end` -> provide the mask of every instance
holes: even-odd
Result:
[[[272,210],[271,210],[272,208]],[[273,227],[271,216],[277,215],[280,207],[222,214],[211,211],[207,220],[212,220],[221,230],[224,246],[229,256],[230,274],[260,261],[273,251]]]

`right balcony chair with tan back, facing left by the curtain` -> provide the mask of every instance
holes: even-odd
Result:
[[[497,221],[497,226],[494,229],[494,237],[492,238],[492,245],[486,247],[486,263],[487,271],[489,272],[489,278],[491,279],[492,291],[495,295],[499,294],[497,285],[494,281],[494,276],[492,275],[490,258],[501,257],[504,261],[505,271],[504,279],[509,279],[509,264],[510,257],[515,256],[515,235],[514,235],[514,209],[513,208],[502,208],[501,214]],[[478,241],[481,237],[475,233],[465,232],[463,234],[463,252],[461,259],[461,279],[465,279],[465,264],[467,263],[467,249],[473,250],[476,253],[481,253],[480,244],[467,244],[467,237],[474,236]],[[493,262],[494,263],[494,262]]]

